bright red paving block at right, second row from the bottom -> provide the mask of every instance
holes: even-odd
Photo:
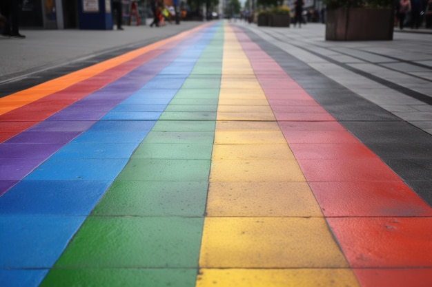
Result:
[[[432,217],[330,217],[352,268],[432,267]]]

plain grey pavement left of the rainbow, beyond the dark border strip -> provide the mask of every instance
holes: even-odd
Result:
[[[115,54],[120,54],[198,25],[202,25],[202,22],[184,21],[180,25],[168,23],[159,28],[150,28],[148,25],[125,26],[123,31],[21,30],[26,39],[0,36],[0,84],[108,52],[110,56],[116,51]]]

